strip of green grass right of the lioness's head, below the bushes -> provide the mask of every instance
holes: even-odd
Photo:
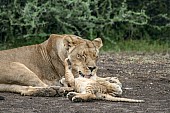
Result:
[[[104,44],[102,51],[170,52],[170,43],[147,40],[126,40],[115,42],[114,44]]]

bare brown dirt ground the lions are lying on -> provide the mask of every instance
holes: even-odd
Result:
[[[0,113],[170,113],[170,54],[105,53],[98,75],[117,76],[122,97],[145,103],[98,101],[72,103],[64,97],[30,97],[0,93]]]

